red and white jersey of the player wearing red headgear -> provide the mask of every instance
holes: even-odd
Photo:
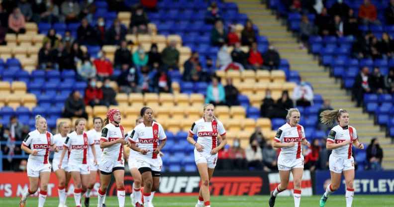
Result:
[[[112,123],[108,123],[102,128],[100,140],[110,142],[116,139],[124,139],[123,126],[115,126]],[[103,148],[101,158],[106,160],[123,160],[123,145],[117,143]]]

